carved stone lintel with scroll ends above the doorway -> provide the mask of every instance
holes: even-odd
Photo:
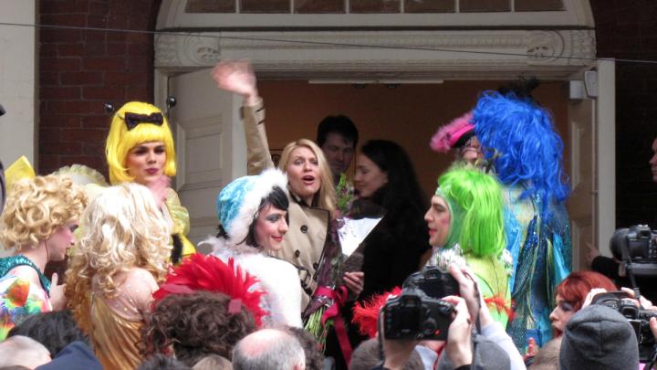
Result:
[[[589,64],[595,54],[593,30],[224,32],[155,38],[155,66],[162,70],[249,58],[259,73],[301,78],[388,73],[463,79],[506,72],[560,78]]]

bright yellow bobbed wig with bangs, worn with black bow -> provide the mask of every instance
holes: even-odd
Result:
[[[117,185],[134,180],[134,177],[128,174],[128,169],[125,165],[128,153],[135,146],[150,142],[162,142],[164,144],[164,151],[166,152],[164,174],[174,176],[176,173],[175,148],[173,146],[172,132],[166,118],[163,118],[162,126],[141,122],[129,130],[125,122],[126,113],[149,115],[151,113],[162,113],[162,111],[149,103],[130,101],[125,103],[114,114],[110,133],[108,133],[107,143],[105,145],[105,156],[110,167],[110,183]]]

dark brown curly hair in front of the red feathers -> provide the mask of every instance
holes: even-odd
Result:
[[[235,344],[256,327],[244,306],[229,313],[230,301],[209,291],[172,294],[158,301],[141,328],[142,354],[166,354],[173,346],[176,358],[189,366],[208,354],[231,359]]]

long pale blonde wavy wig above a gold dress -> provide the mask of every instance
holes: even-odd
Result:
[[[118,294],[120,272],[141,268],[164,280],[171,254],[171,227],[151,191],[124,183],[105,189],[82,217],[83,235],[66,273],[68,307],[78,322],[89,315],[92,283],[107,298]],[[84,330],[85,328],[83,328]]]

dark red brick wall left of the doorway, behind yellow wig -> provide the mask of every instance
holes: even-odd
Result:
[[[40,0],[39,23],[153,30],[161,0]],[[41,28],[39,173],[87,164],[107,174],[110,117],[126,101],[152,101],[152,36]]]

